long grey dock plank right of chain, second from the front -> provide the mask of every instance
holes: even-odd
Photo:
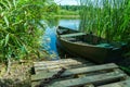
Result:
[[[70,86],[82,86],[86,84],[95,84],[95,83],[101,83],[101,82],[107,82],[107,80],[115,80],[125,77],[126,74],[122,73],[106,73],[106,74],[101,74],[101,75],[93,75],[93,76],[87,76],[87,77],[81,77],[81,78],[74,78],[74,79],[67,79],[67,80],[61,80],[61,82],[55,82],[49,87],[70,87]]]

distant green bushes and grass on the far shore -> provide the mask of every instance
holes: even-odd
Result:
[[[57,5],[52,1],[51,4],[47,4],[43,9],[46,18],[70,18],[70,17],[79,17],[79,9],[78,5]]]

